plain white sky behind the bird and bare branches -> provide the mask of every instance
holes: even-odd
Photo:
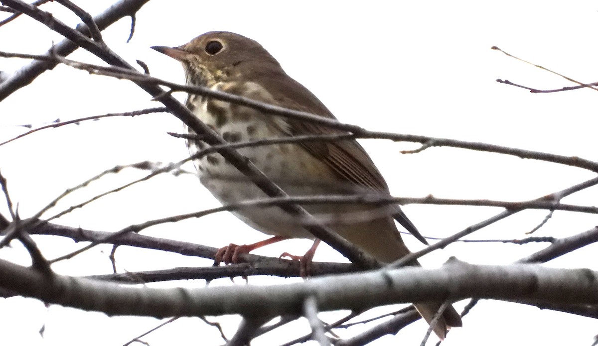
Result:
[[[91,14],[112,1],[78,1]],[[44,9],[69,24],[77,17],[58,4]],[[530,94],[498,84],[495,79],[536,88],[559,88],[570,83],[533,66],[490,50],[496,45],[515,56],[558,71],[582,82],[594,82],[598,68],[595,31],[598,6],[594,1],[422,1],[322,2],[300,5],[278,1],[188,2],[152,0],[138,13],[135,36],[129,44],[129,19],[103,32],[105,41],[129,62],[143,60],[152,75],[182,82],[175,61],[151,49],[152,45],[180,45],[203,32],[229,30],[260,42],[289,75],[306,85],[341,121],[370,130],[423,134],[514,146],[598,160],[596,152],[595,93],[591,90]],[[42,53],[61,37],[44,26],[21,17],[0,27],[0,50]],[[72,59],[99,63],[85,52]],[[0,59],[0,70],[13,72],[26,60]],[[179,94],[182,100],[184,95]],[[131,82],[118,81],[59,66],[40,76],[0,103],[0,142],[26,131],[19,124],[70,120],[108,112],[133,111],[159,106]],[[181,131],[181,124],[167,114],[112,118],[45,130],[0,147],[0,169],[7,177],[19,212],[27,217],[66,188],[114,167],[143,160],[178,161],[187,154],[182,140],[167,131]],[[520,201],[537,198],[582,182],[593,174],[581,169],[460,149],[434,148],[416,155],[399,150],[410,143],[362,141],[388,179],[394,195],[447,198],[489,198]],[[192,166],[187,166],[193,170]],[[107,189],[144,176],[125,171],[106,177],[59,204],[68,207]],[[565,203],[596,204],[598,189],[588,189]],[[1,204],[1,203],[0,203]],[[60,219],[70,226],[115,231],[147,219],[193,212],[218,203],[195,177],[161,176],[114,197],[104,198]],[[407,215],[425,235],[444,237],[483,221],[500,210],[444,206],[407,206]],[[5,206],[0,207],[8,215]],[[53,215],[50,213],[49,215]],[[522,212],[478,231],[471,238],[522,238],[546,215]],[[592,228],[596,216],[555,213],[538,236],[566,237]],[[217,227],[218,231],[213,232]],[[222,213],[176,225],[147,229],[143,234],[192,241],[209,246],[262,240],[232,215]],[[48,258],[76,249],[69,240],[38,237]],[[419,249],[416,241],[408,245]],[[309,241],[292,240],[256,253],[278,256],[284,251],[303,253]],[[448,256],[475,264],[508,264],[542,247],[510,244],[454,244],[423,258],[424,265],[441,265]],[[547,265],[595,265],[596,246],[588,246]],[[86,275],[111,271],[110,247],[97,247],[74,261],[53,267],[60,274]],[[26,264],[25,250],[14,244],[2,249],[1,258]],[[342,261],[327,247],[316,261]],[[176,266],[209,265],[184,256],[121,248],[119,270],[138,271]],[[250,283],[281,282],[251,278]],[[286,280],[288,282],[296,280]],[[285,281],[285,282],[286,282]],[[237,280],[242,284],[242,280]],[[185,284],[185,283],[178,283]],[[203,282],[187,285],[202,286]],[[228,284],[217,280],[212,284]],[[155,285],[160,286],[160,285]],[[463,303],[456,304],[461,308]],[[4,340],[29,345],[120,345],[159,322],[154,319],[106,317],[61,307],[48,311],[38,301],[12,298],[0,301],[0,330]],[[334,317],[325,319],[333,321]],[[216,320],[212,318],[212,320]],[[232,336],[238,319],[221,319]],[[46,324],[45,338],[37,333]],[[450,345],[581,344],[590,345],[598,332],[591,319],[553,311],[539,311],[500,302],[482,302],[444,343]],[[301,332],[284,330],[279,339],[260,338],[255,345],[282,344]],[[295,324],[294,328],[298,325]],[[350,332],[339,332],[341,336]],[[425,323],[418,322],[386,336],[375,344],[408,341],[419,343]],[[176,335],[176,336],[175,336]],[[291,336],[292,335],[292,336]],[[218,333],[196,319],[176,321],[144,338],[151,345],[221,344]],[[432,342],[432,341],[431,341]],[[252,344],[253,345],[253,344]]]

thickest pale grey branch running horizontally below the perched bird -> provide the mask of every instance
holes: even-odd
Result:
[[[321,311],[443,301],[448,296],[598,304],[598,272],[530,264],[453,263],[434,270],[401,268],[313,278],[296,284],[204,289],[123,287],[63,275],[48,278],[32,268],[2,260],[0,271],[5,273],[0,275],[0,286],[22,292],[24,296],[110,315],[300,314],[304,299],[310,295],[316,296]]]

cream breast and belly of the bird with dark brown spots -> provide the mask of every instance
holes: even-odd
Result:
[[[218,82],[211,88],[276,104],[271,94],[254,82]],[[282,117],[199,95],[190,95],[186,105],[199,120],[229,143],[289,137],[288,123]],[[185,131],[193,134],[187,126]],[[208,147],[201,140],[187,140],[187,146],[191,155]],[[249,146],[238,150],[289,195],[321,194],[322,188],[332,186],[335,180],[332,179],[335,174],[328,166],[314,160],[312,155],[298,144]],[[205,155],[194,160],[194,164],[202,184],[222,204],[267,197],[251,182],[250,177],[240,173],[220,154]],[[277,207],[247,207],[234,212],[234,215],[266,234],[313,238],[299,221],[292,219]],[[281,223],[285,227],[281,227]]]

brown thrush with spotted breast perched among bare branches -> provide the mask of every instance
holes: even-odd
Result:
[[[276,59],[252,39],[230,32],[208,32],[179,47],[152,48],[182,63],[187,84],[203,85],[334,119],[334,115],[314,94],[286,75]],[[274,116],[196,94],[187,97],[186,105],[227,142],[339,133],[324,125]],[[187,140],[187,145],[191,154],[206,146],[199,139]],[[384,178],[355,140],[252,146],[239,149],[239,152],[291,196],[389,194]],[[243,176],[221,155],[207,155],[196,160],[195,164],[200,181],[222,203],[266,198],[252,183],[251,177]],[[423,240],[398,206],[315,204],[305,208],[381,262],[393,262],[410,253],[393,217]],[[218,253],[218,259],[224,257],[225,261],[230,261],[231,256],[236,257],[239,251],[248,252],[285,238],[313,239],[313,235],[303,228],[301,220],[293,219],[277,207],[245,208],[234,212],[234,215],[274,237],[248,246],[231,244]],[[312,255],[313,250],[315,247],[312,247]],[[416,304],[416,307],[429,323],[440,305],[429,302]],[[452,307],[444,311],[434,331],[444,338],[450,326],[461,326],[459,314]]]

